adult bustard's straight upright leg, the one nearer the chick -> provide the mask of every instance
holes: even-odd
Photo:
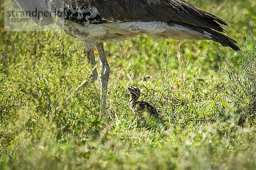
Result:
[[[106,108],[106,98],[107,98],[107,89],[108,89],[108,78],[110,73],[110,67],[108,65],[108,61],[105,56],[104,46],[102,42],[96,44],[96,48],[99,53],[99,61],[100,61],[100,116],[103,116]]]

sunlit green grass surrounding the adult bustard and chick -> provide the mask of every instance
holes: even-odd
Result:
[[[81,42],[64,31],[5,32],[1,12],[0,52],[13,52],[0,57],[0,169],[255,169],[256,52],[246,26],[255,36],[256,2],[189,2],[226,20],[244,54],[206,40],[108,43],[107,119],[99,81],[61,106],[90,76]],[[137,124],[131,85],[162,121]]]

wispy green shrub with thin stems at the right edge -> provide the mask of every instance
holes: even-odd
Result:
[[[241,52],[241,62],[234,59],[235,53],[227,54],[226,57],[219,53],[224,58],[225,68],[216,71],[220,80],[217,91],[224,101],[234,106],[239,125],[244,122],[249,122],[250,125],[256,124],[256,40],[251,31],[248,28],[247,30],[254,43],[248,45],[248,40],[246,41]],[[251,44],[254,44],[254,47],[251,47]],[[224,82],[225,76],[228,76],[227,82]],[[219,106],[216,108],[220,108]],[[224,113],[224,111],[227,110],[218,109],[218,112]]]

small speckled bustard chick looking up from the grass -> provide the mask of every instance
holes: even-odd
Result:
[[[149,116],[153,116],[158,118],[159,115],[157,113],[157,109],[150,105],[148,102],[139,101],[140,97],[140,88],[136,86],[129,87],[128,90],[130,91],[130,101],[129,106],[131,110],[135,111],[139,116],[142,116],[143,113],[150,113]]]

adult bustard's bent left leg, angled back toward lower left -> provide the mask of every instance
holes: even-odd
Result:
[[[90,48],[89,50],[84,49],[84,54],[85,53],[87,53],[88,62],[91,65],[91,67],[93,68],[93,73],[90,76],[90,78],[91,78],[90,82],[95,82],[95,80],[98,78],[98,73],[97,73],[97,69],[95,68],[96,62],[95,62],[95,57],[94,57],[94,46],[93,46],[93,48]],[[76,90],[67,97],[67,102],[70,101],[70,98],[73,95],[79,94],[79,92],[81,90],[83,90],[87,84],[88,84],[87,79],[84,79],[84,81],[76,88]]]

